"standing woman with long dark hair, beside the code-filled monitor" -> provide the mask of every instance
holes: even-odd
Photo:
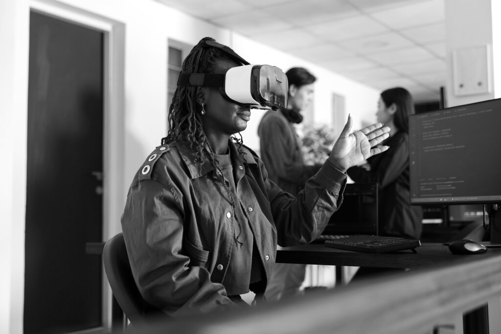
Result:
[[[357,166],[348,170],[355,182],[377,182],[379,187],[378,223],[381,235],[419,239],[422,210],[410,205],[409,195],[409,115],[414,114],[410,93],[401,87],[381,93],[377,121],[390,128],[382,145],[389,149],[367,159],[369,170]]]

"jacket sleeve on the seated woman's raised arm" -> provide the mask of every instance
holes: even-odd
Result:
[[[278,244],[287,247],[315,240],[343,201],[346,174],[326,161],[294,197],[268,179],[264,165],[262,169]]]

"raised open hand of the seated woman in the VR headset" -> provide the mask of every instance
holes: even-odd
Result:
[[[384,152],[388,146],[374,147],[389,137],[389,127],[381,123],[369,125],[359,131],[351,132],[353,120],[348,116],[348,122],[341,131],[338,140],[334,143],[328,160],[341,172]],[[374,147],[374,148],[373,148]]]

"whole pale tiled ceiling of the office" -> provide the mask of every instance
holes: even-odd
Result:
[[[382,90],[436,101],[445,85],[443,0],[158,0]]]

